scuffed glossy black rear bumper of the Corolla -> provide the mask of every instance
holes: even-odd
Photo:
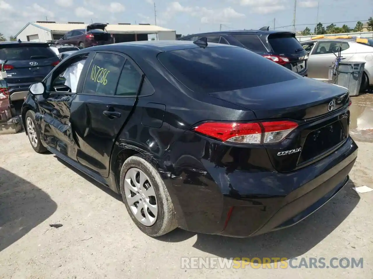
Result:
[[[193,183],[185,174],[164,181],[181,228],[249,237],[294,225],[329,201],[347,184],[357,149],[348,137],[332,154],[291,173],[229,173],[216,166],[206,167],[205,173],[195,169]]]

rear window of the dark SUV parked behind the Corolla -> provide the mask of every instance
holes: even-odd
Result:
[[[268,42],[276,53],[294,53],[296,50],[303,49],[292,34],[272,34],[268,36]]]

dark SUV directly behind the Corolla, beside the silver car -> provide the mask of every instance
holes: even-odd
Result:
[[[269,27],[265,26],[259,30],[200,33],[178,40],[195,41],[203,37],[210,43],[247,48],[301,76],[307,76],[308,55],[295,38],[294,32],[269,31]]]

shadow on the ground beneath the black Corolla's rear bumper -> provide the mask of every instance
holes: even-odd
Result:
[[[350,215],[360,200],[352,187],[355,186],[350,180],[341,192],[314,214],[283,230],[250,238],[232,238],[176,229],[156,239],[180,242],[197,235],[194,248],[222,258],[285,257],[291,259],[316,246]],[[247,220],[250,222],[250,216]]]

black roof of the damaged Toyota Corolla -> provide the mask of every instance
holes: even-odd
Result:
[[[223,45],[223,44],[215,44],[215,43],[208,43],[210,47],[235,47],[232,45]],[[94,49],[100,50],[114,50],[114,51],[121,51],[123,47],[132,48],[132,49],[139,49],[142,50],[156,50],[159,52],[164,51],[173,51],[173,50],[181,50],[181,49],[189,49],[189,48],[198,48],[192,41],[137,41],[137,42],[125,42],[125,43],[117,43],[117,44],[110,44],[110,45],[101,45],[96,47],[90,47]]]

